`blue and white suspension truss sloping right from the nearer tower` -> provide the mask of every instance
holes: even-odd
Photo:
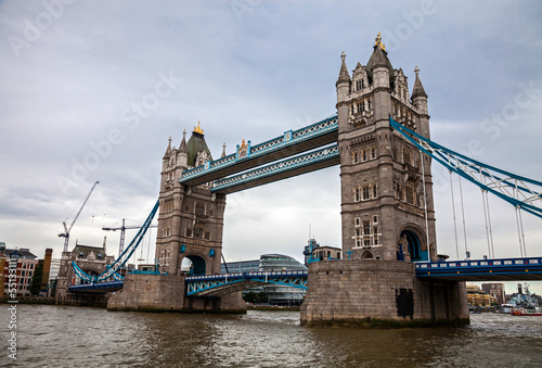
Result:
[[[542,182],[483,164],[405,128],[389,117],[393,129],[449,170],[517,208],[542,218]]]

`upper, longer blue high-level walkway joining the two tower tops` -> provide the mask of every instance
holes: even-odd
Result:
[[[309,125],[288,130],[283,136],[256,145],[248,144],[247,155],[236,153],[210,161],[202,166],[184,170],[179,179],[183,186],[194,187],[217,180],[228,175],[241,173],[273,161],[282,160],[301,152],[336,142],[338,138],[337,115]]]

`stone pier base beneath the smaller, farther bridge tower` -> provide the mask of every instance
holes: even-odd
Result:
[[[246,313],[241,292],[220,297],[186,297],[184,277],[127,275],[122,290],[107,303],[107,310]]]

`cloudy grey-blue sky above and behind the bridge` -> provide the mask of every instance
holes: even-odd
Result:
[[[107,236],[117,254],[119,233],[101,228],[144,220],[168,137],[178,147],[201,120],[218,157],[222,143],[232,153],[242,139],[325,118],[340,52],[350,71],[365,64],[378,31],[411,90],[420,67],[435,141],[542,180],[541,17],[537,1],[1,1],[0,241],[59,257],[62,221],[99,180],[70,249]],[[438,251],[455,258],[450,181],[434,172]],[[301,259],[309,224],[321,244],[340,245],[338,173],[229,195],[225,258]],[[466,182],[463,191],[467,248],[480,258],[481,194]],[[490,208],[495,256],[519,256],[514,210],[493,198]],[[527,254],[540,256],[540,219],[522,220]]]

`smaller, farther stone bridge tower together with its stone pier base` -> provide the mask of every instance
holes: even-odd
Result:
[[[212,161],[199,124],[188,141],[185,135],[177,149],[169,139],[163,160],[155,255],[160,274],[127,275],[108,310],[246,313],[241,291],[206,299],[185,295],[183,259],[192,263],[191,276],[220,274],[225,210],[225,194],[211,193],[210,183],[179,183],[183,170]]]

